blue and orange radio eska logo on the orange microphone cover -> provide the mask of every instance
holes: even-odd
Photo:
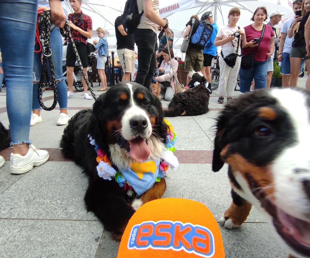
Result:
[[[128,249],[184,250],[202,257],[214,255],[214,237],[203,226],[180,221],[145,221],[132,227]]]

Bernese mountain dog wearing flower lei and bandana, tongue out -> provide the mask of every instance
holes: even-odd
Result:
[[[166,190],[159,170],[169,128],[163,119],[158,98],[128,82],[101,94],[92,110],[76,113],[65,128],[62,153],[89,177],[87,210],[116,240],[133,213]]]

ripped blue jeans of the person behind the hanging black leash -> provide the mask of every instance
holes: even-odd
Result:
[[[59,28],[56,26],[51,31],[50,40],[51,50],[52,50],[52,60],[54,65],[55,79],[57,82],[57,94],[58,94],[58,104],[60,108],[68,109],[68,97],[67,97],[67,85],[65,84],[64,77],[62,75],[62,38]],[[35,46],[35,50],[39,49],[39,46]],[[47,62],[48,63],[48,62]],[[38,87],[42,71],[42,60],[41,53],[34,53],[33,62],[33,90],[32,90],[32,110],[41,110],[38,101]],[[49,65],[47,65],[47,71],[49,72]],[[42,95],[42,92],[41,92]]]

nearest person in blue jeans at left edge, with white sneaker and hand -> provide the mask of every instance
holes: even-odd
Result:
[[[49,2],[52,21],[63,27],[65,14],[61,2]],[[12,174],[26,173],[49,158],[46,150],[36,149],[29,140],[36,14],[36,0],[0,1],[0,47],[7,86],[7,116],[13,145],[10,162]],[[7,44],[7,39],[20,40],[15,40],[12,48],[12,45]]]

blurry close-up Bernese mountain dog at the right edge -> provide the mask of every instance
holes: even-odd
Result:
[[[233,199],[220,223],[239,227],[253,204],[293,257],[310,257],[310,94],[245,93],[216,127],[212,169],[229,165]]]

